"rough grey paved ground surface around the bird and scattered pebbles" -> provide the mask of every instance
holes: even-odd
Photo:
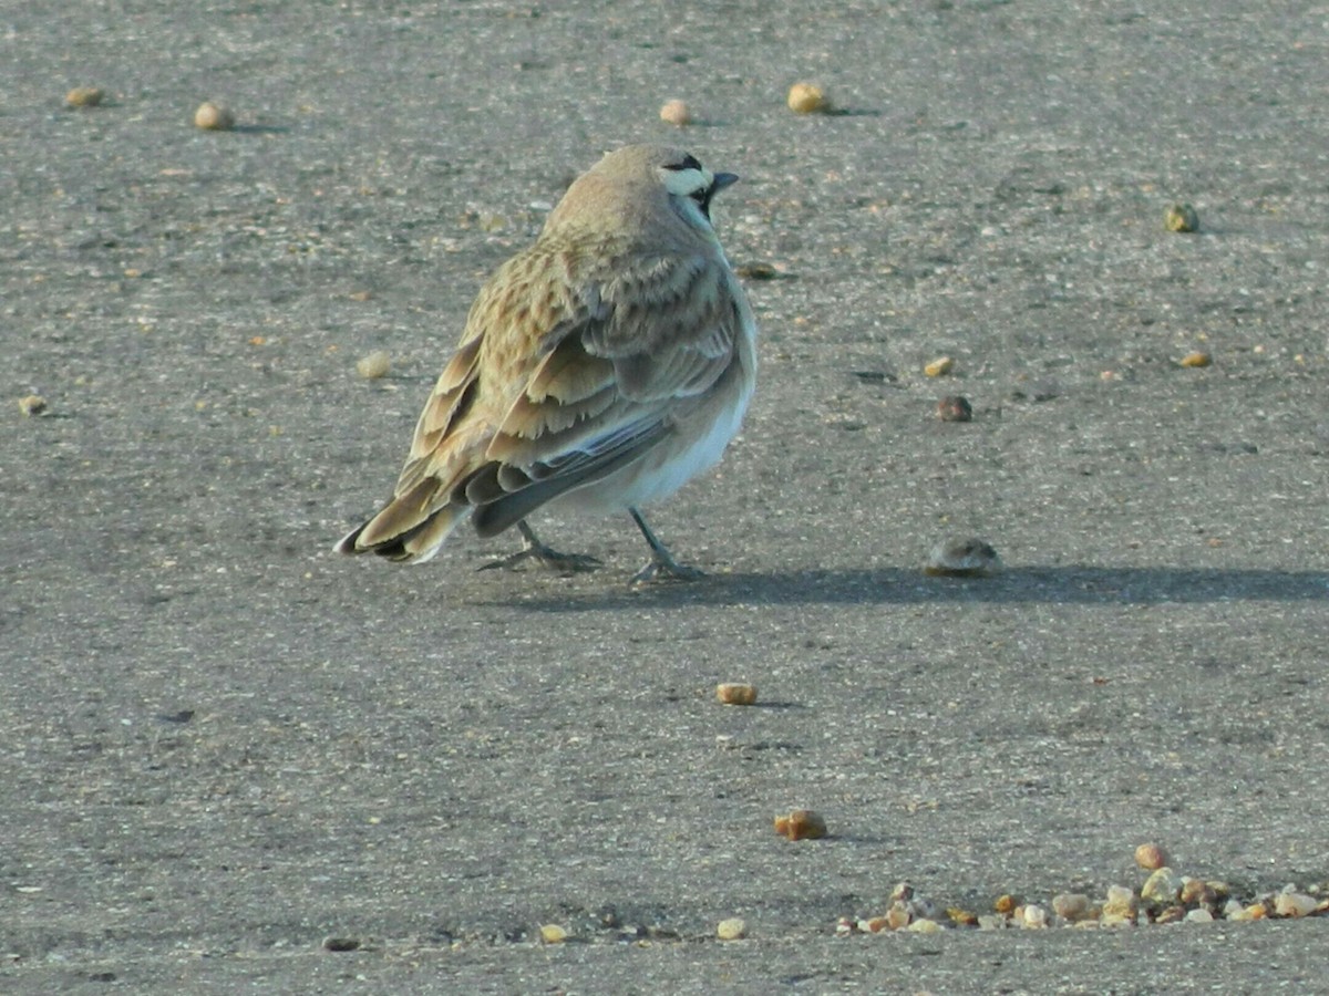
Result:
[[[1329,880],[1322,5],[206,7],[0,9],[0,989],[1324,985],[1324,918],[835,936],[1144,839]],[[631,588],[626,517],[537,523],[578,578],[332,555],[485,274],[661,139],[776,275],[650,513],[711,578]]]

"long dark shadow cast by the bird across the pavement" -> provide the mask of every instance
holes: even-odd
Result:
[[[929,578],[917,570],[851,568],[716,574],[694,583],[606,587],[533,596],[536,612],[683,606],[1163,604],[1329,602],[1329,571],[1203,567],[1007,567],[986,578]],[[512,604],[510,602],[508,604]]]

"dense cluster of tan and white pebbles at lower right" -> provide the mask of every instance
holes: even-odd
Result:
[[[1318,892],[1317,888],[1312,891]],[[841,916],[839,936],[909,931],[934,934],[949,928],[1046,930],[1049,927],[1146,927],[1162,923],[1213,920],[1272,920],[1329,914],[1329,899],[1285,886],[1278,892],[1240,898],[1225,882],[1180,875],[1168,866],[1154,869],[1139,890],[1108,886],[1102,898],[1061,892],[1047,903],[1021,902],[1002,895],[990,912],[940,907],[902,882],[890,894],[890,906],[876,916]]]

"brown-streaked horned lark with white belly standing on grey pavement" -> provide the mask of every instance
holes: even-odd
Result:
[[[638,145],[583,174],[480,291],[391,502],[336,544],[428,560],[469,519],[517,526],[534,556],[585,568],[526,523],[541,506],[626,510],[651,547],[637,579],[695,578],[639,506],[719,461],[756,374],[756,325],[711,227],[738,179]]]

